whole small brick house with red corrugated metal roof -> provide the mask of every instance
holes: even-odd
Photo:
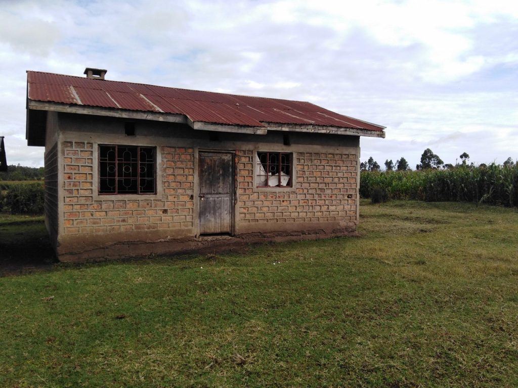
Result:
[[[26,139],[45,146],[45,220],[60,260],[356,228],[359,138],[384,138],[385,127],[309,102],[84,73],[27,71]]]

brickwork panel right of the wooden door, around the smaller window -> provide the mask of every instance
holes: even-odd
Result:
[[[356,154],[295,152],[296,182],[285,190],[254,188],[253,151],[238,151],[236,159],[241,225],[337,222],[340,227],[356,227]]]

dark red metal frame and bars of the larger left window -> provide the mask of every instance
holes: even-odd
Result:
[[[109,160],[106,160],[106,161],[103,161],[101,160],[102,158],[102,147],[114,147],[114,151],[115,151],[115,160],[113,161],[115,163],[115,169],[114,169],[114,173],[115,173],[115,176],[114,177],[109,177],[109,176],[106,176],[106,177],[103,177],[102,176],[102,165],[103,165],[103,162],[110,162]],[[122,191],[119,190],[119,184],[120,184],[120,180],[122,178],[119,178],[118,176],[118,173],[119,173],[119,163],[124,163],[124,161],[122,160],[119,160],[120,157],[119,157],[119,147],[121,148],[132,148],[132,149],[135,149],[136,151],[136,161],[134,163],[137,164],[137,174],[136,174],[136,177],[132,176],[131,179],[132,180],[136,180],[137,182],[137,185],[136,185],[136,191],[131,191],[131,192],[128,192],[128,191]],[[152,155],[151,155],[151,159],[152,161],[149,162],[149,161],[141,161],[141,148],[147,148],[149,150],[152,151]],[[133,144],[98,144],[97,145],[97,155],[96,155],[96,162],[97,162],[97,175],[98,175],[98,178],[97,178],[97,195],[98,196],[156,196],[157,195],[157,147],[156,146],[151,146],[151,145],[133,145]],[[140,180],[141,180],[141,176],[140,176],[140,169],[141,169],[141,166],[143,163],[151,163],[152,164],[152,186],[153,186],[153,191],[141,191],[141,186],[140,186]],[[108,180],[109,178],[113,178],[114,179],[114,184],[115,184],[115,189],[114,191],[102,191],[102,180],[103,179],[106,179]],[[149,178],[148,178],[149,179]]]

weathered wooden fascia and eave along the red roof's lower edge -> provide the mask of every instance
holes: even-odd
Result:
[[[34,101],[27,99],[26,139],[28,145],[45,145],[45,127],[48,111],[120,117],[129,118],[131,120],[151,120],[167,123],[178,123],[188,125],[195,130],[249,133],[251,135],[266,135],[268,129],[271,129],[277,131],[291,132],[333,133],[336,135],[368,136],[377,138],[385,137],[385,131],[383,130],[371,131],[358,128],[341,128],[331,126],[318,126],[312,124],[262,123],[265,125],[264,127],[225,125],[217,123],[192,121],[188,116],[184,114],[111,109],[102,107],[81,106],[74,104],[64,104],[59,102]]]

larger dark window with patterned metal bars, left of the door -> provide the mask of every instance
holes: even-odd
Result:
[[[99,194],[154,194],[155,148],[99,145]]]

